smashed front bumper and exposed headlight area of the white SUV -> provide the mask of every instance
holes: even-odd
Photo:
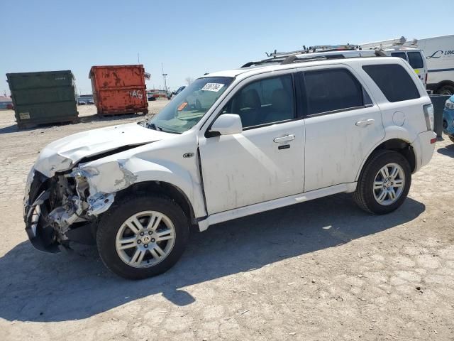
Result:
[[[32,169],[28,175],[23,217],[36,249],[58,252],[70,241],[91,244],[101,213],[114,202],[114,193],[91,193],[82,169],[48,178]]]

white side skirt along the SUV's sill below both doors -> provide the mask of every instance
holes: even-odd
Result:
[[[259,204],[239,207],[234,210],[228,210],[224,212],[215,213],[209,215],[205,220],[199,221],[199,230],[205,231],[210,225],[218,224],[219,222],[226,222],[246,215],[254,215],[255,213],[265,212],[269,210],[275,210],[279,207],[289,206],[298,204],[299,202],[309,201],[317,199],[319,197],[326,197],[337,193],[352,193],[356,190],[357,183],[341,183],[319,190],[311,190],[310,192],[300,193],[297,195],[291,195],[289,197],[281,197],[279,199],[260,202]]]

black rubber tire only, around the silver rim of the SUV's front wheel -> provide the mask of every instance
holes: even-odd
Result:
[[[153,210],[167,215],[175,227],[175,244],[165,259],[155,266],[135,268],[121,260],[116,251],[116,234],[123,222],[135,213]],[[141,193],[123,197],[114,202],[109,211],[102,215],[96,232],[96,244],[104,265],[123,278],[143,279],[157,276],[177,263],[186,247],[189,237],[189,224],[179,205],[169,197]]]

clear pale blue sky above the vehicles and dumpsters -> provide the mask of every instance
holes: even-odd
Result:
[[[0,5],[0,94],[6,72],[72,70],[91,93],[92,65],[140,63],[147,87],[239,67],[265,51],[454,33],[453,0],[13,0]]]

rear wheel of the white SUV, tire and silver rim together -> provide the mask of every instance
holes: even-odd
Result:
[[[376,151],[363,168],[353,197],[362,210],[384,215],[402,205],[410,185],[406,158],[397,151]]]

